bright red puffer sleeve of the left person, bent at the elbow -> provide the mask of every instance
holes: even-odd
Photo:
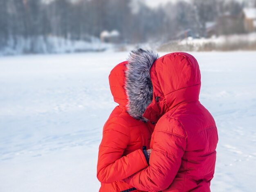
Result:
[[[142,150],[123,156],[130,142],[130,127],[126,124],[124,119],[114,118],[103,129],[97,164],[97,178],[101,183],[125,179],[148,166]]]

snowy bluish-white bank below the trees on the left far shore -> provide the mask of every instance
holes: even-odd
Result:
[[[9,38],[0,46],[0,56],[20,54],[63,54],[87,51],[104,51],[113,47],[102,43],[99,38],[86,36],[86,40],[71,40],[57,36]]]

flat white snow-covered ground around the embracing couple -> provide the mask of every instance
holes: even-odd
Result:
[[[161,53],[163,55],[164,53]],[[256,52],[193,53],[218,125],[213,192],[255,191]],[[128,53],[0,58],[0,192],[97,192],[98,145]]]

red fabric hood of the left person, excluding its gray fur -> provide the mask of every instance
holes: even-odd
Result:
[[[119,63],[112,69],[110,75],[108,76],[110,91],[114,98],[114,101],[118,103],[121,107],[125,107],[128,103],[126,91],[124,89],[125,85],[125,71],[126,71],[127,61]]]

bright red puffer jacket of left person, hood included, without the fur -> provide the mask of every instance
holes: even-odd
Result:
[[[117,65],[109,76],[110,89],[119,106],[115,107],[103,127],[97,165],[100,192],[138,192],[121,180],[148,166],[142,149],[149,148],[153,125],[136,120],[126,112],[126,63]]]

